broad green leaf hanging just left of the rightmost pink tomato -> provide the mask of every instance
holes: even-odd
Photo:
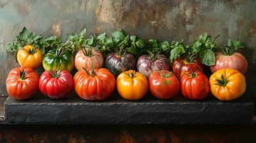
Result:
[[[214,52],[210,49],[202,50],[200,52],[200,61],[206,66],[213,66],[215,64]]]

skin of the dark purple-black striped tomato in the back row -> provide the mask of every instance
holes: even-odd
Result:
[[[120,73],[135,70],[136,69],[136,60],[132,54],[125,54],[124,57],[116,56],[116,53],[109,53],[106,56],[105,61],[106,68],[111,72],[115,77]]]

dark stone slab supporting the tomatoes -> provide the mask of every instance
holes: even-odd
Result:
[[[148,93],[139,101],[124,100],[115,91],[102,102],[88,102],[74,92],[63,100],[35,98],[4,103],[6,124],[250,124],[253,102],[246,92],[231,102],[211,94],[202,101],[181,95],[158,100]]]

